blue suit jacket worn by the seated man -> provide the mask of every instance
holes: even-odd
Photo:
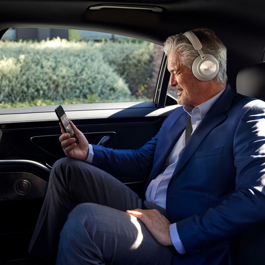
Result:
[[[93,146],[93,165],[116,177],[149,175],[148,186],[186,128],[187,115],[176,108],[138,150]],[[229,240],[265,220],[264,186],[265,103],[228,85],[183,148],[168,185],[168,218],[187,251],[175,251],[173,264],[231,264]]]

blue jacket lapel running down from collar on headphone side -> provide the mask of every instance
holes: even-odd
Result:
[[[188,162],[206,135],[227,118],[224,112],[230,108],[235,95],[236,92],[227,84],[224,93],[210,108],[205,118],[196,128],[196,131],[192,133],[187,145],[183,148],[173,176]]]

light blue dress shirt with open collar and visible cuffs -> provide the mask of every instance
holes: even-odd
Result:
[[[224,90],[225,89],[223,89],[217,95],[205,101],[201,105],[197,106],[196,108],[187,105],[183,106],[183,109],[191,116],[192,133],[194,133],[195,129],[198,127],[198,125],[200,124],[206,113],[216,102],[216,100],[222,95]],[[171,153],[169,154],[165,166],[162,170],[162,173],[160,173],[157,176],[157,178],[153,179],[151,183],[148,185],[145,193],[145,198],[148,202],[152,202],[163,208],[166,208],[166,195],[167,195],[168,183],[172,177],[174,169],[176,168],[180,154],[183,148],[185,147],[185,132],[186,130],[184,130],[184,132],[178,139],[177,143],[173,147]],[[93,156],[94,156],[93,146],[89,144],[89,153],[86,162],[91,164],[93,161]],[[176,248],[176,250],[180,254],[185,254],[186,250],[179,238],[176,223],[169,225],[169,233],[172,243]]]

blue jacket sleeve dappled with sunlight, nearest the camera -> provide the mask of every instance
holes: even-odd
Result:
[[[244,106],[234,135],[236,190],[220,205],[176,222],[187,252],[226,241],[265,221],[265,103]],[[202,247],[203,248],[203,247]]]

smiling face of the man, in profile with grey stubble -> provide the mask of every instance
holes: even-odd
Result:
[[[196,106],[200,81],[181,63],[178,53],[168,55],[168,71],[171,74],[170,86],[178,91],[178,104]]]

